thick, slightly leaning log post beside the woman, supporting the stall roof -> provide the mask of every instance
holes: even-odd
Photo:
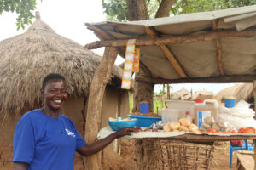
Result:
[[[85,124],[85,140],[89,144],[96,141],[97,133],[100,130],[103,94],[117,54],[118,50],[116,48],[105,48],[102,62],[97,67],[90,85]],[[89,156],[86,162],[85,167],[88,170],[102,169],[99,153]]]

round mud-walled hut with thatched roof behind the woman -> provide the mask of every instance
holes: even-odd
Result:
[[[90,82],[102,58],[56,34],[40,20],[39,14],[36,18],[24,34],[0,42],[0,169],[13,169],[15,124],[23,113],[40,107],[39,89],[50,72],[66,77],[69,99],[62,113],[84,135]],[[103,97],[101,127],[107,126],[109,116],[125,116],[129,112],[128,92],[119,88],[121,77],[122,70],[114,66]],[[84,169],[80,156],[76,156],[75,169]]]

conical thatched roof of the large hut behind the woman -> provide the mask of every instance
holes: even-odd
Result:
[[[0,42],[0,116],[37,105],[42,79],[50,72],[66,77],[70,96],[89,94],[90,82],[102,59],[56,34],[39,14],[36,18],[25,33]],[[120,83],[121,77],[122,70],[114,66],[112,80],[119,79],[114,83]]]

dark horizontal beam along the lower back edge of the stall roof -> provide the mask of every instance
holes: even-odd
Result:
[[[180,79],[162,79],[150,77],[135,77],[137,82],[145,82],[149,84],[172,84],[172,83],[234,83],[234,82],[252,82],[256,79],[256,75],[247,76],[224,76],[209,78],[180,78]]]

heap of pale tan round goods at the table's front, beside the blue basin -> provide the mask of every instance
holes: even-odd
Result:
[[[188,118],[181,118],[177,122],[167,123],[164,127],[164,132],[190,132],[190,133],[200,133],[198,127],[191,123]]]

